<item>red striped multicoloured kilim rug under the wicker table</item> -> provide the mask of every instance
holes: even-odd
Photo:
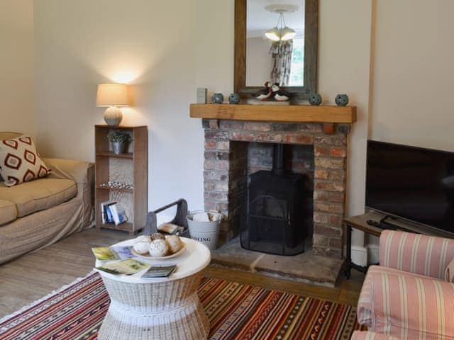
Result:
[[[199,297],[213,340],[344,340],[359,327],[354,307],[252,285],[204,278]],[[102,280],[90,273],[1,319],[0,339],[97,339],[107,307]]]

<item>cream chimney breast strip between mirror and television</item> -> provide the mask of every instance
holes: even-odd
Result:
[[[365,207],[372,0],[320,0],[319,6],[319,93],[328,104],[336,94],[348,94],[349,105],[358,109],[349,139],[346,207],[347,215],[358,215]],[[352,258],[365,264],[364,234],[354,231],[352,238]]]

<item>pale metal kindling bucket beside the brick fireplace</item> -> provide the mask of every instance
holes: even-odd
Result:
[[[206,212],[211,216],[217,217],[217,219],[216,221],[210,222],[197,222],[192,220],[192,217],[199,212]],[[205,244],[210,250],[216,249],[222,217],[223,215],[221,212],[218,212],[217,210],[196,210],[189,212],[187,215],[187,225],[191,238]]]

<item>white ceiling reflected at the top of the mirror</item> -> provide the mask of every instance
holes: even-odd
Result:
[[[265,10],[267,5],[289,4],[299,7],[294,13],[284,14],[285,23],[298,33],[304,31],[304,0],[248,0],[247,35],[248,38],[259,37],[266,30],[276,26],[278,13],[270,13]]]

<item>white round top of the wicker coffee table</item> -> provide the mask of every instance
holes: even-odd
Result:
[[[101,274],[101,276],[126,283],[166,282],[192,276],[209,265],[211,261],[211,253],[208,247],[201,242],[197,242],[186,237],[181,237],[181,239],[185,244],[185,249],[179,256],[175,256],[170,259],[143,259],[138,256],[133,258],[143,263],[150,263],[153,266],[177,265],[177,269],[168,278],[140,278],[146,270],[139,271],[133,275],[114,275],[106,273],[105,271],[96,270],[96,268],[95,270]],[[132,246],[134,242],[135,239],[128,239],[126,241],[113,244],[113,246]],[[102,266],[102,264],[103,262],[96,260],[95,267]]]

